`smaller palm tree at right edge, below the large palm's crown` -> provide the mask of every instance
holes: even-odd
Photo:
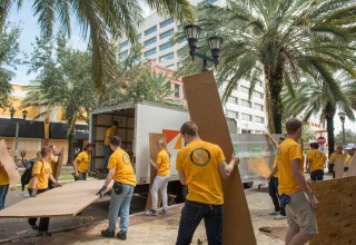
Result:
[[[334,116],[337,109],[345,111],[350,120],[355,120],[356,88],[349,77],[338,74],[332,81],[308,77],[296,87],[291,95],[286,89],[283,102],[288,110],[286,116],[303,114],[304,121],[312,115],[319,115],[320,121],[326,121],[329,155],[335,150]]]

